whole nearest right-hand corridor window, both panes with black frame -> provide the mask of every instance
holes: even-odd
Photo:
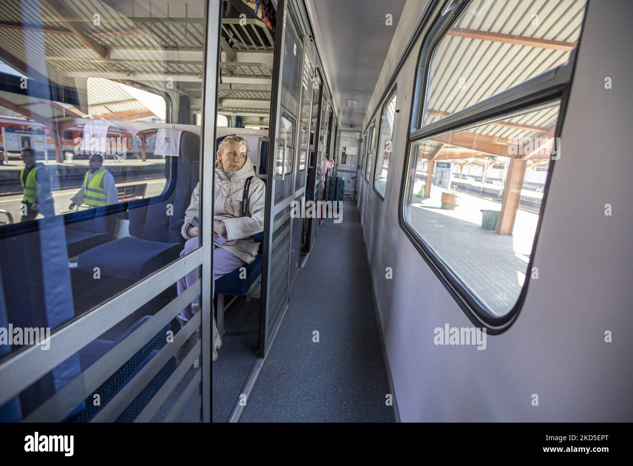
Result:
[[[415,93],[425,116],[409,134],[401,225],[471,320],[492,331],[508,328],[538,274],[534,245],[583,12],[584,1],[545,2],[537,24],[525,2],[473,1],[438,20],[454,23],[441,40],[427,37],[435,49],[422,46],[419,65],[430,65]]]

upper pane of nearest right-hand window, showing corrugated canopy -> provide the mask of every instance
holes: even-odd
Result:
[[[422,126],[565,63],[585,4],[473,0],[434,50]]]

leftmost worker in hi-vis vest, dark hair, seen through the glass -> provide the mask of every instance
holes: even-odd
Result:
[[[25,165],[20,171],[20,184],[24,192],[20,221],[34,220],[37,214],[54,216],[51,175],[42,162],[37,162],[37,154],[33,148],[23,148],[20,159]]]

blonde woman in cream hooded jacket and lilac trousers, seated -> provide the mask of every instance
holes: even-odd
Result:
[[[263,231],[264,205],[266,202],[266,185],[255,176],[253,162],[248,157],[248,143],[240,136],[227,136],[218,146],[215,162],[215,207],[213,222],[213,287],[220,276],[237,268],[250,264],[258,253],[259,243],[253,235]],[[248,184],[248,188],[246,187]],[[198,247],[200,218],[199,183],[192,195],[191,204],[185,211],[185,223],[182,236],[187,239],[180,257],[189,254]],[[244,191],[248,191],[248,201],[242,204]],[[197,269],[189,272],[177,283],[178,294],[183,293],[198,280]],[[185,307],[178,316],[181,325],[197,313],[198,297]],[[213,313],[212,313],[213,315]],[[195,344],[197,332],[185,344]],[[213,318],[213,361],[217,358],[217,350],[222,344]]]

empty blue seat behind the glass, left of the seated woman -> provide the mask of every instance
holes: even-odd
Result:
[[[89,249],[77,261],[80,271],[102,276],[141,280],[178,258],[184,238],[173,224],[184,218],[191,193],[198,181],[200,139],[189,131],[180,134],[180,156],[172,193],[167,198],[150,199],[128,212],[130,236]]]

